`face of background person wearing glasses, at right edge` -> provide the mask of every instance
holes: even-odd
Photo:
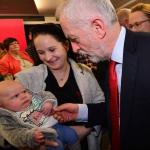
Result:
[[[130,13],[129,28],[135,32],[150,32],[150,19],[142,11]]]

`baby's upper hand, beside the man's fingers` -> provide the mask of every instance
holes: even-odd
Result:
[[[48,116],[48,115],[51,114],[52,108],[53,108],[53,104],[50,103],[49,101],[47,101],[47,102],[45,102],[45,103],[43,104],[42,113],[43,113],[44,115],[47,115],[47,116]]]

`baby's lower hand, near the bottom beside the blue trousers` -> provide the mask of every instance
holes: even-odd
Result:
[[[35,130],[33,138],[36,143],[43,144],[45,142],[44,134],[40,130]]]

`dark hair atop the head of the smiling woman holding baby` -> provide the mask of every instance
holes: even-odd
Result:
[[[33,40],[39,34],[49,34],[53,36],[57,41],[65,43],[67,38],[65,37],[61,27],[58,24],[49,23],[49,24],[42,24],[32,29]]]

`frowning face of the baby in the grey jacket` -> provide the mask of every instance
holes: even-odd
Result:
[[[31,103],[32,95],[20,84],[14,82],[5,89],[2,107],[14,112],[24,111]]]

